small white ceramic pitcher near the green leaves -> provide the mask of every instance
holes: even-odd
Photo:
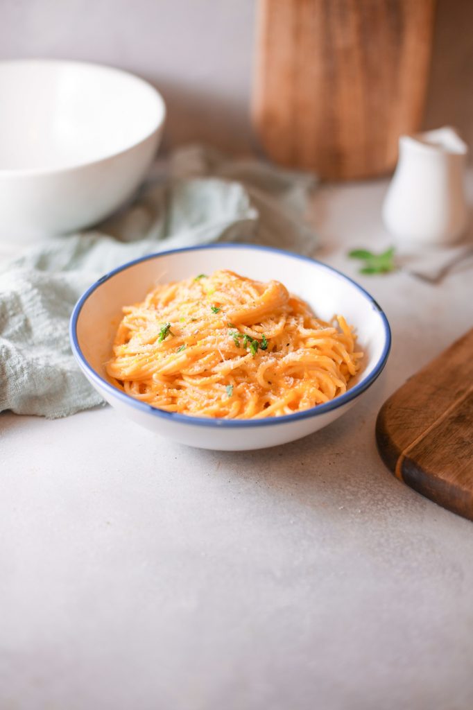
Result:
[[[468,222],[464,164],[468,146],[456,131],[399,138],[399,160],[383,206],[386,229],[404,244],[447,246]]]

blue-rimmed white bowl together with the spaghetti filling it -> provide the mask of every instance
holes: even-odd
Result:
[[[351,279],[264,246],[176,249],[80,298],[72,352],[138,424],[205,449],[284,444],[347,412],[383,370],[386,315]]]

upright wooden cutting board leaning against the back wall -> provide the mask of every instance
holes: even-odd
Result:
[[[434,0],[259,0],[253,119],[268,156],[330,180],[396,165],[420,129]]]

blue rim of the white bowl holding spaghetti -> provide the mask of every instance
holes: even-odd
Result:
[[[99,376],[97,372],[89,365],[87,359],[85,359],[85,356],[82,353],[82,350],[80,349],[80,345],[77,339],[77,320],[79,319],[82,306],[85,304],[88,297],[92,293],[94,293],[97,288],[99,288],[103,283],[108,281],[114,275],[120,273],[121,271],[126,271],[126,269],[131,268],[132,266],[135,266],[136,264],[141,263],[142,261],[150,261],[151,259],[158,259],[163,256],[169,256],[170,254],[183,253],[186,251],[210,251],[213,249],[250,249],[258,251],[270,251],[272,253],[281,254],[282,256],[287,256],[288,258],[300,259],[301,261],[308,261],[309,263],[317,264],[317,266],[321,266],[322,268],[327,269],[327,271],[331,271],[332,273],[337,274],[340,278],[343,278],[344,280],[354,285],[354,287],[357,288],[357,290],[359,290],[359,292],[362,293],[367,300],[369,300],[374,310],[379,313],[381,323],[384,327],[385,341],[383,352],[381,353],[381,356],[376,362],[376,366],[374,366],[373,371],[370,373],[370,375],[361,382],[357,383],[357,385],[349,389],[344,394],[338,395],[338,397],[335,397],[334,399],[330,400],[330,402],[319,404],[310,409],[303,410],[303,412],[295,412],[294,414],[286,414],[282,415],[281,417],[268,417],[268,419],[256,420],[214,419],[212,417],[193,417],[190,415],[179,414],[177,412],[166,412],[165,410],[152,407],[151,405],[146,404],[145,402],[136,400],[130,395],[121,392],[121,390],[117,389],[111,383],[107,382],[107,380],[105,380],[103,377]],[[310,258],[310,256],[303,256],[301,254],[296,254],[291,251],[286,251],[285,249],[276,249],[276,247],[273,246],[263,246],[261,244],[243,244],[241,242],[225,242],[223,244],[202,244],[200,246],[186,246],[182,249],[169,249],[168,251],[159,251],[158,253],[148,254],[147,256],[141,256],[140,258],[134,259],[133,261],[128,261],[122,264],[121,266],[118,266],[113,271],[109,271],[109,273],[102,276],[102,278],[99,278],[99,280],[92,284],[92,286],[90,286],[90,288],[88,288],[87,291],[77,301],[74,310],[72,311],[72,316],[70,317],[69,334],[72,353],[74,354],[82,369],[87,372],[87,375],[94,382],[96,382],[100,387],[104,388],[110,395],[112,395],[112,397],[115,397],[124,402],[125,404],[131,405],[132,407],[141,410],[141,412],[151,414],[155,417],[162,417],[163,419],[168,420],[170,422],[180,422],[181,424],[193,426],[205,426],[224,429],[243,429],[249,427],[268,427],[278,424],[287,424],[289,422],[309,419],[310,417],[317,417],[334,409],[337,409],[338,407],[342,407],[344,404],[357,398],[359,395],[361,395],[361,393],[366,391],[374,383],[374,381],[379,377],[379,375],[383,371],[384,366],[386,365],[386,361],[388,359],[389,351],[391,349],[391,328],[389,327],[388,319],[386,318],[384,310],[368,293],[368,291],[362,288],[352,278],[349,278],[349,276],[344,275],[344,273],[338,271],[332,266],[327,266],[327,264],[322,263],[321,261],[317,261],[317,259]]]

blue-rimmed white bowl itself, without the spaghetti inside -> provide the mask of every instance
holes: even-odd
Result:
[[[107,380],[121,307],[143,299],[157,283],[231,268],[259,280],[282,281],[322,319],[342,313],[357,329],[365,357],[361,373],[344,395],[304,412],[262,420],[190,417],[138,402]],[[72,352],[92,386],[121,414],[156,434],[202,449],[237,451],[284,444],[325,427],[347,412],[381,373],[391,332],[376,301],[351,279],[310,258],[246,244],[217,244],[167,251],[124,264],[80,298],[70,320]]]

